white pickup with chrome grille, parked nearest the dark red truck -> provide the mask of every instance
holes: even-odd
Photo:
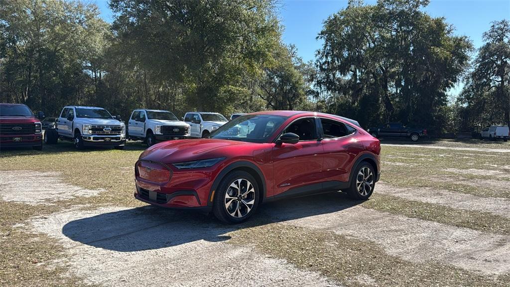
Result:
[[[120,116],[112,116],[97,107],[65,106],[56,123],[44,133],[44,141],[55,144],[58,139],[74,142],[81,150],[85,146],[124,149],[125,125]]]

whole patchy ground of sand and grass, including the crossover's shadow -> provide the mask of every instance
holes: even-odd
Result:
[[[2,151],[0,285],[509,286],[510,154],[439,145],[384,146],[366,202],[274,202],[234,226],[135,201],[138,145]]]

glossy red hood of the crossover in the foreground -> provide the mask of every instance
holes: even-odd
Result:
[[[222,157],[230,154],[228,150],[240,146],[258,145],[257,143],[226,139],[183,139],[160,142],[146,149],[140,159],[162,163],[174,163]]]

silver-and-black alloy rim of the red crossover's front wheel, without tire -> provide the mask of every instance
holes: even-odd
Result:
[[[228,186],[225,193],[225,209],[234,218],[242,218],[248,214],[255,204],[255,189],[247,179],[240,178]]]

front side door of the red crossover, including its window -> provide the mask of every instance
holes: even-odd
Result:
[[[324,149],[318,140],[318,129],[314,117],[299,118],[283,133],[299,135],[299,142],[276,144],[272,150],[274,193],[300,193],[314,184],[320,185]],[[299,189],[301,188],[301,189]]]

